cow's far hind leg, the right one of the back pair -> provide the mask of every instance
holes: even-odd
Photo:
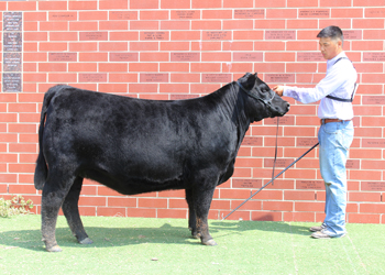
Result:
[[[79,215],[78,201],[82,186],[82,178],[77,177],[70,187],[66,198],[64,199],[62,209],[64,216],[67,219],[68,226],[76,237],[77,241],[81,244],[91,244],[90,240],[82,227],[82,222]]]

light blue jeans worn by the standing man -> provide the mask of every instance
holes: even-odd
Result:
[[[324,220],[327,233],[346,233],[346,158],[354,135],[353,122],[329,122],[318,132],[319,166],[326,187]]]

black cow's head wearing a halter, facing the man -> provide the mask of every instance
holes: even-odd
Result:
[[[245,74],[238,79],[237,85],[241,92],[249,97],[246,111],[252,121],[283,117],[289,110],[290,105],[277,96],[256,74]]]

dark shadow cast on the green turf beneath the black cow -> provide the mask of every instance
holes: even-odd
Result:
[[[228,235],[242,235],[245,231],[271,231],[288,234],[308,235],[307,227],[290,226],[285,222],[271,221],[218,221],[210,220],[210,233],[215,240],[224,239]],[[200,240],[194,239],[186,227],[175,227],[165,222],[154,228],[114,228],[114,227],[85,227],[92,244],[82,245],[73,237],[69,228],[56,228],[56,240],[65,248],[112,248],[124,245],[138,245],[143,243],[169,243],[183,245],[201,245]],[[0,249],[21,248],[33,251],[45,251],[40,230],[13,230],[4,231],[0,237]]]

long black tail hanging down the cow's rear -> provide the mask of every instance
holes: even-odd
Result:
[[[48,167],[45,162],[45,157],[43,154],[43,132],[44,132],[44,124],[45,124],[45,118],[46,112],[50,106],[50,102],[52,98],[55,96],[56,89],[55,87],[50,88],[48,91],[44,96],[43,107],[42,107],[42,113],[40,119],[40,128],[38,128],[38,156],[36,161],[36,168],[35,168],[35,176],[34,176],[34,184],[35,188],[37,190],[42,190],[44,183],[48,175]]]

